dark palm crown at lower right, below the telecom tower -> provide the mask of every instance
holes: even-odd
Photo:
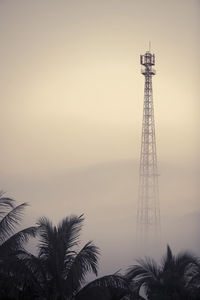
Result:
[[[129,268],[126,277],[132,279],[135,288],[144,288],[147,299],[191,300],[188,288],[188,274],[196,268],[197,258],[189,252],[172,254],[169,246],[161,264],[153,259],[138,260]]]

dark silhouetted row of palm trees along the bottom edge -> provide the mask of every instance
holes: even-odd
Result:
[[[175,256],[169,246],[160,264],[139,259],[124,274],[85,285],[89,272],[97,276],[100,252],[91,241],[79,248],[83,215],[66,217],[58,226],[42,217],[36,226],[16,232],[26,206],[0,193],[0,299],[200,299],[199,257],[190,252]],[[37,255],[26,249],[35,237]]]

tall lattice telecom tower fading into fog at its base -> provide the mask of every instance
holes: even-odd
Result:
[[[147,51],[140,55],[141,73],[145,77],[142,141],[139,170],[139,199],[137,208],[137,239],[141,245],[159,239],[160,209],[158,193],[158,170],[154,124],[152,77],[156,71],[155,55]]]

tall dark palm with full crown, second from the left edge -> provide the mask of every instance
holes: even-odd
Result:
[[[32,274],[32,293],[41,299],[72,299],[88,272],[97,275],[99,249],[90,241],[78,250],[83,220],[70,216],[54,226],[39,219],[38,256],[22,253],[20,259]]]

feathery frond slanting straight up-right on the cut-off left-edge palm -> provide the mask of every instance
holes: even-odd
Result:
[[[22,219],[24,208],[27,203],[22,203],[9,211],[0,221],[0,241],[5,241],[15,231]]]

